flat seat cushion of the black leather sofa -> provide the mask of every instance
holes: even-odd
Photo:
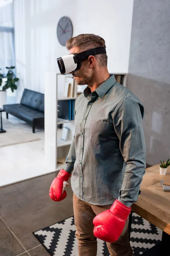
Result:
[[[17,116],[20,119],[25,120],[26,122],[33,122],[34,119],[44,118],[44,112],[40,112],[36,109],[29,108],[22,104],[3,105],[3,109],[5,109],[7,113],[10,113],[13,116]]]

